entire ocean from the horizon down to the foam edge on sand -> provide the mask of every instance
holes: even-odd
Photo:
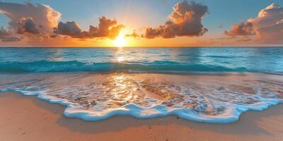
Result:
[[[283,102],[283,48],[0,48],[0,90],[111,116],[231,123]]]

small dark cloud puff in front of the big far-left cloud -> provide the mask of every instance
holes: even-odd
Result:
[[[33,18],[21,18],[18,20],[18,34],[40,34],[40,26],[33,22]]]

